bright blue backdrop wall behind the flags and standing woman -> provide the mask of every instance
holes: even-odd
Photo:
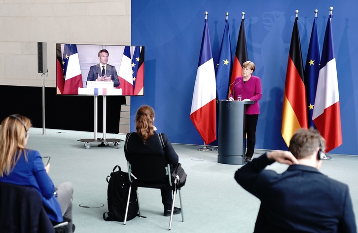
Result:
[[[249,60],[256,64],[254,75],[261,78],[262,99],[257,125],[257,149],[286,150],[281,136],[282,101],[295,10],[303,62],[318,9],[321,44],[329,7],[333,6],[332,28],[338,73],[343,145],[332,154],[358,155],[358,1],[334,0],[135,0],[132,1],[132,45],[145,46],[144,97],[131,97],[131,121],[143,104],[154,108],[155,125],[175,143],[203,145],[189,115],[204,28],[208,25],[214,62],[218,59],[229,12],[233,55],[245,12]],[[135,130],[132,125],[132,130]],[[217,142],[212,143],[217,145]]]

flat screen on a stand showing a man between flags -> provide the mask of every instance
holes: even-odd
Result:
[[[57,95],[144,95],[144,46],[56,44]]]

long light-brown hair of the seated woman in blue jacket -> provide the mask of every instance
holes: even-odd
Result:
[[[10,174],[20,158],[25,158],[26,137],[31,120],[25,116],[14,114],[7,116],[0,127],[0,177]]]

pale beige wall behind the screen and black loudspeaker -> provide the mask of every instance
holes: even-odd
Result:
[[[42,86],[37,41],[56,87],[56,43],[130,45],[131,0],[0,0],[0,85]]]

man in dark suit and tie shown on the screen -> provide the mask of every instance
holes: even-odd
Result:
[[[114,66],[107,64],[109,53],[107,49],[98,52],[100,63],[90,67],[87,81],[113,81],[113,86],[119,86],[117,71]]]

